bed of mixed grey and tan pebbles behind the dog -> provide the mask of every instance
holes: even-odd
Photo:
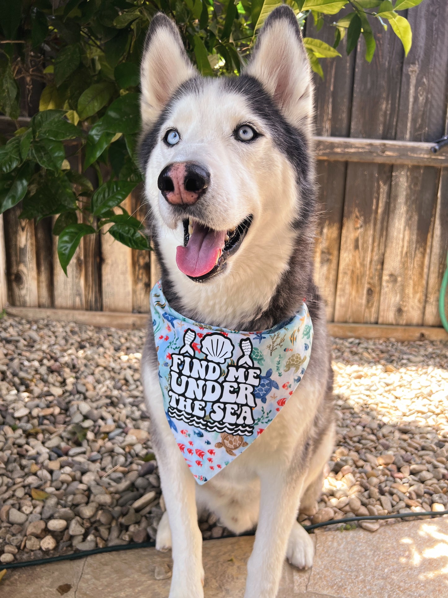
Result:
[[[144,341],[144,331],[0,319],[1,563],[155,539],[165,507]],[[447,508],[447,348],[334,341],[337,448],[303,524]],[[213,514],[200,528],[228,533]]]

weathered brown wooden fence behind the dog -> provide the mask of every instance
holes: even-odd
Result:
[[[329,322],[383,325],[388,334],[385,325],[435,327],[443,338],[438,294],[448,249],[448,147],[437,154],[430,148],[448,133],[448,2],[425,0],[408,18],[407,57],[378,23],[372,64],[361,38],[349,57],[341,44],[342,58],[323,61],[325,78],[315,80],[315,271]],[[328,30],[332,44],[332,28],[313,29],[306,35]],[[137,193],[124,207],[145,216]],[[109,236],[88,236],[66,277],[51,222],[19,221],[19,213],[17,206],[4,215],[4,246],[0,222],[0,274],[3,260],[10,306],[148,312],[154,257]]]

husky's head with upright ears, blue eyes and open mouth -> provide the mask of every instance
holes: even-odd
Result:
[[[146,197],[174,279],[213,284],[257,264],[277,276],[312,203],[311,73],[293,11],[274,10],[244,74],[220,78],[198,74],[158,14],[141,74]]]

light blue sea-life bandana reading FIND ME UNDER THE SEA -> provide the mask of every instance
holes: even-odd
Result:
[[[311,318],[302,303],[262,332],[208,326],[175,312],[160,282],[151,313],[165,415],[203,484],[262,434],[297,388],[311,354]]]

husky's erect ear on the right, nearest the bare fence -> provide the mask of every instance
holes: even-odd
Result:
[[[311,117],[311,69],[296,16],[289,6],[275,8],[266,19],[246,74],[262,83],[294,126],[303,126]]]

